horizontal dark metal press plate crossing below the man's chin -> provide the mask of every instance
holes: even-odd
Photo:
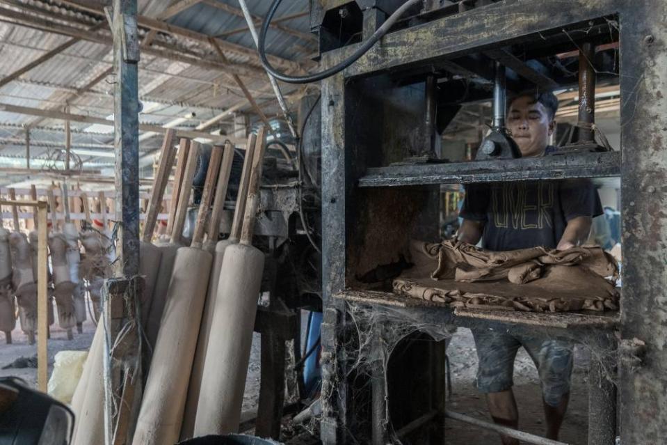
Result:
[[[397,165],[371,168],[359,187],[397,187],[620,175],[620,152],[567,153],[525,159]]]

